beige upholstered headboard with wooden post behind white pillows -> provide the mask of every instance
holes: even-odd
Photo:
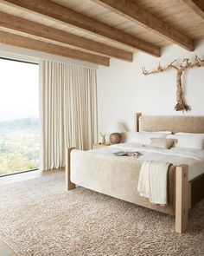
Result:
[[[172,131],[173,133],[204,133],[204,116],[135,115],[135,131]]]

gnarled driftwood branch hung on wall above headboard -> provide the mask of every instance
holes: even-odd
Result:
[[[153,71],[148,71],[143,67],[143,75],[150,75],[150,74],[156,74],[161,73],[163,71],[166,71],[168,69],[175,69],[176,70],[176,105],[175,110],[176,111],[189,111],[191,108],[185,103],[182,95],[182,72],[186,69],[192,69],[192,68],[200,68],[204,67],[204,59],[201,60],[198,56],[195,56],[194,62],[189,62],[189,59],[184,59],[180,66],[177,67],[174,62],[170,62],[169,65],[165,68],[163,68],[160,63],[157,67],[157,69]]]

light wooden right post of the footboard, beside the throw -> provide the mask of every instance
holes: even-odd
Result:
[[[175,232],[188,228],[188,166],[176,167],[175,172]]]

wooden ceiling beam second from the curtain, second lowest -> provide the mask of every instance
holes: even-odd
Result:
[[[25,36],[32,35],[46,38],[57,43],[65,43],[69,46],[71,45],[74,48],[82,49],[82,51],[91,51],[94,53],[103,54],[105,56],[112,56],[128,62],[132,62],[133,59],[131,52],[116,49],[104,43],[94,42],[82,36],[75,36],[66,31],[56,30],[40,23],[34,23],[29,20],[22,19],[21,17],[12,16],[1,11],[0,17],[0,28],[2,27],[9,30],[14,30],[15,34],[17,34],[17,32],[21,32],[25,34]]]

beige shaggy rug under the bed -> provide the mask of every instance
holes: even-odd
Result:
[[[20,255],[204,255],[204,200],[188,233],[174,218],[82,187],[55,173],[0,187],[0,236]]]

